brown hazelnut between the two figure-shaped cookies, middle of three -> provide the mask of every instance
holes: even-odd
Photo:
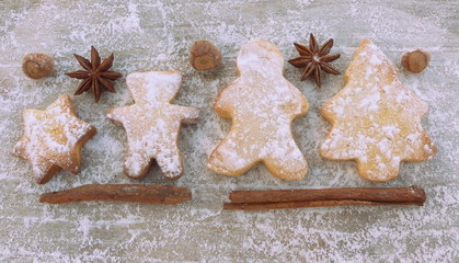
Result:
[[[221,64],[221,53],[210,42],[197,41],[192,45],[190,61],[193,68],[197,70],[216,69]]]

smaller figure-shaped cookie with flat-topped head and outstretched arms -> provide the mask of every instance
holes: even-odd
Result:
[[[127,87],[135,104],[111,108],[107,116],[124,126],[127,133],[125,173],[144,176],[156,159],[168,179],[182,175],[183,164],[177,148],[179,130],[183,123],[196,123],[199,111],[173,105],[182,76],[179,71],[135,72],[127,76]]]

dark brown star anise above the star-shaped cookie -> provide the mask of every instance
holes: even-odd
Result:
[[[73,56],[77,58],[81,67],[85,69],[66,73],[71,78],[83,80],[74,92],[76,95],[79,95],[91,89],[92,93],[94,94],[95,102],[99,102],[103,89],[113,93],[116,92],[111,80],[116,80],[123,77],[123,75],[115,71],[108,71],[113,65],[113,60],[115,59],[113,53],[102,62],[101,57],[99,56],[99,52],[93,46],[91,46],[91,62],[77,54],[73,54]]]

